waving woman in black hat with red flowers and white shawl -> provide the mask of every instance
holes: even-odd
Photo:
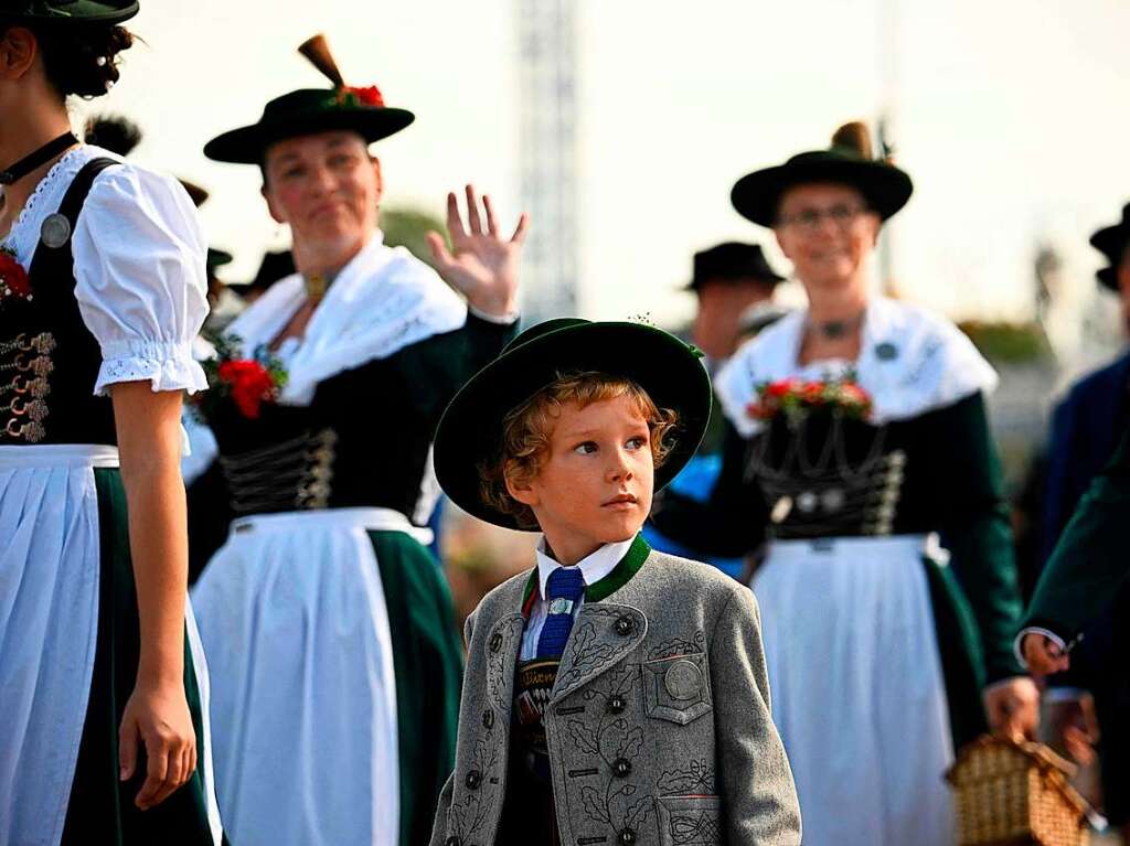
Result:
[[[226,396],[205,408],[236,518],[193,588],[218,792],[240,843],[417,844],[451,769],[462,662],[424,546],[432,435],[513,335],[525,219],[501,237],[469,186],[464,228],[449,197],[454,255],[433,248],[450,286],[385,246],[368,145],[412,114],[346,86],[324,42],[304,52],[333,87],[205,148],[260,167],[297,268],[226,330]]]

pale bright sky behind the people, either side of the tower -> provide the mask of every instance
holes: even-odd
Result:
[[[209,238],[236,254],[231,276],[250,274],[285,233],[255,168],[200,149],[267,99],[324,85],[295,52],[324,32],[347,81],[417,114],[374,147],[388,203],[438,215],[449,189],[473,181],[513,219],[519,2],[142,0],[130,26],[147,45],[127,53],[108,97],[76,111],[141,123],[137,158],[212,192]],[[879,46],[884,8],[896,9],[893,52]],[[1086,239],[1130,201],[1127,0],[580,0],[576,12],[585,316],[689,315],[678,288],[695,250],[772,242],[730,207],[733,182],[826,146],[888,95],[916,185],[892,229],[912,299],[956,317],[1027,316],[1040,239],[1089,290],[1099,256]]]

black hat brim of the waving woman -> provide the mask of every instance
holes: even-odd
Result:
[[[260,121],[216,136],[205,145],[205,155],[214,162],[237,165],[262,164],[267,148],[278,141],[320,132],[347,130],[356,132],[366,143],[380,141],[410,125],[416,115],[406,108],[372,108],[319,112],[286,120]]]

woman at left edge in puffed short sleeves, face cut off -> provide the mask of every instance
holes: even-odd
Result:
[[[2,843],[221,840],[180,476],[205,245],[175,180],[67,114],[137,10],[0,3]]]

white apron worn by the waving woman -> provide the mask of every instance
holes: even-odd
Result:
[[[395,846],[392,637],[370,530],[385,508],[236,520],[193,588],[220,808],[240,846]]]

